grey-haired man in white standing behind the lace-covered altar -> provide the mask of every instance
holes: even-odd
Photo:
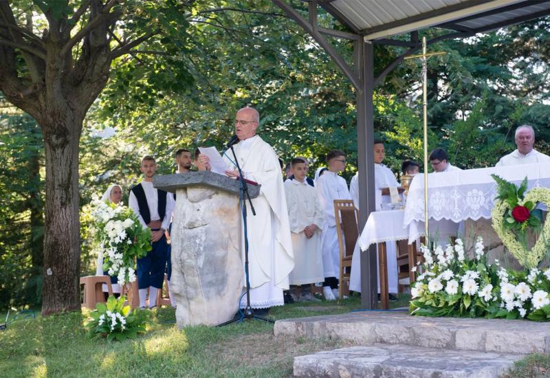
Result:
[[[536,164],[550,162],[550,156],[544,155],[533,148],[535,131],[533,126],[524,124],[516,129],[516,150],[498,160],[496,166],[515,166],[517,164]]]

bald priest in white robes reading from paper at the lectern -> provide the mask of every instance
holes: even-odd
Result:
[[[256,109],[245,107],[239,110],[235,118],[235,134],[239,142],[233,148],[245,179],[261,184],[259,197],[252,199],[256,216],[247,206],[250,304],[253,309],[269,309],[284,304],[283,289],[289,288],[288,276],[294,268],[294,254],[281,166],[272,146],[256,135],[259,122]],[[199,159],[203,164],[209,164],[206,155],[199,155]],[[225,174],[238,177],[231,151],[227,151],[223,159],[228,166],[234,167]],[[244,247],[242,251],[244,253]],[[243,298],[241,308],[245,306]],[[255,312],[260,315],[267,313]]]

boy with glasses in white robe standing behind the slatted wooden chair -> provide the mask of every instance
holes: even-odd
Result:
[[[346,180],[338,175],[346,168],[346,154],[340,150],[330,151],[327,154],[327,164],[328,169],[317,179],[315,186],[320,205],[325,212],[325,226],[322,230],[322,266],[325,276],[323,294],[326,300],[336,300],[340,278],[340,245],[336,233],[334,200],[351,197]]]

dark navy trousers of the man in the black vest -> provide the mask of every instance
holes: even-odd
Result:
[[[167,254],[168,244],[163,234],[159,241],[153,243],[153,249],[145,257],[136,260],[137,287],[139,289],[147,289],[150,286],[162,289]]]

